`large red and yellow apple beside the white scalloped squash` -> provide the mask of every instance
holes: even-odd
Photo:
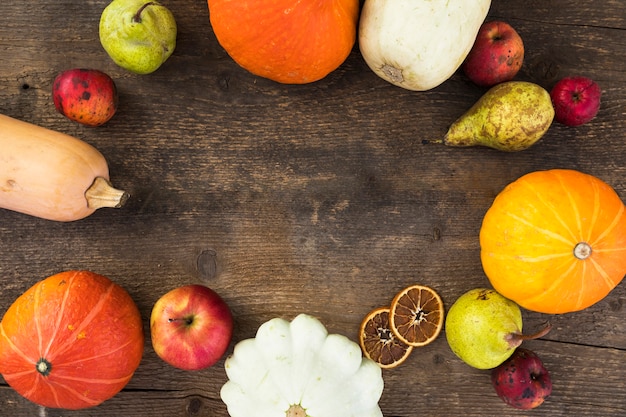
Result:
[[[157,300],[150,315],[152,347],[170,365],[199,370],[226,352],[233,317],[226,302],[203,285],[178,287]]]

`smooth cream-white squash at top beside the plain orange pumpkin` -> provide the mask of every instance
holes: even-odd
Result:
[[[490,6],[491,0],[365,0],[361,54],[384,80],[430,90],[461,66]]]

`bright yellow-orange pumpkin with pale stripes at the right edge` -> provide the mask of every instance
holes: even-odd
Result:
[[[602,180],[574,170],[526,174],[496,197],[480,229],[493,287],[522,307],[568,313],[626,274],[626,212]]]

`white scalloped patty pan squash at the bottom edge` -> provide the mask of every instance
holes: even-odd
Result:
[[[231,417],[382,417],[381,368],[360,346],[300,314],[262,324],[225,362]]]

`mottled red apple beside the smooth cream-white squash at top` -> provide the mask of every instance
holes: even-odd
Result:
[[[481,87],[512,80],[524,62],[524,43],[506,22],[482,24],[474,46],[463,62],[465,75]]]

